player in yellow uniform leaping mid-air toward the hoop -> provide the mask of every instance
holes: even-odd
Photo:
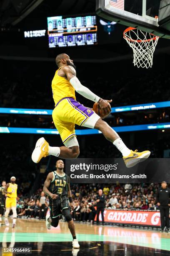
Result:
[[[112,100],[103,100],[83,86],[76,77],[75,65],[67,54],[56,57],[58,66],[52,80],[52,94],[55,109],[52,118],[65,146],[51,147],[44,138],[40,138],[32,152],[32,161],[38,163],[44,156],[60,156],[75,159],[79,155],[79,144],[75,135],[75,124],[98,129],[122,153],[127,167],[132,167],[150,156],[150,151],[132,151],[123,143],[119,135],[90,108],[76,101],[75,91],[85,98],[98,102],[100,108],[109,114]]]

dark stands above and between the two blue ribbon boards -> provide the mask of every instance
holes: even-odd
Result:
[[[7,65],[7,63],[6,63]],[[13,63],[10,67],[11,76],[1,74],[0,108],[37,108],[53,109],[51,81],[55,73],[55,67],[48,67],[46,63],[37,69],[35,62]],[[18,72],[20,70],[20,72]],[[157,70],[146,71],[145,75],[138,71],[137,74],[129,72],[124,76],[114,74],[91,76],[84,74],[84,68],[80,66],[77,76],[83,85],[104,99],[112,99],[112,107],[133,105],[170,100],[170,77],[166,69],[161,73]],[[133,90],[132,88],[138,88]],[[133,93],[132,93],[133,92]],[[139,93],[140,92],[140,93]],[[152,92],[152,93],[151,93]],[[166,93],[161,93],[166,92]],[[93,102],[76,93],[77,101],[92,108]],[[135,112],[137,113],[137,112]],[[138,117],[138,118],[137,118]],[[162,123],[170,121],[170,113],[167,108],[156,113],[143,112],[136,116],[121,113],[110,115],[105,119],[111,126],[137,125],[147,123]],[[55,128],[52,117],[4,115],[0,120],[0,126],[28,127],[28,128]]]

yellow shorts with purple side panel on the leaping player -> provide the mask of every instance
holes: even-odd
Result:
[[[91,108],[83,106],[70,97],[61,99],[52,112],[53,122],[63,143],[75,136],[75,124],[94,128],[99,118]]]

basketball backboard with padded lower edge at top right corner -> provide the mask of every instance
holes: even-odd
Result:
[[[127,27],[170,39],[170,31],[159,26],[161,0],[96,0],[96,13]]]

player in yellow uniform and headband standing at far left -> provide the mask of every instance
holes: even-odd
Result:
[[[5,201],[5,225],[9,226],[9,222],[7,220],[7,216],[10,212],[10,208],[13,211],[13,225],[12,227],[15,228],[16,225],[16,218],[17,218],[17,189],[18,185],[15,184],[16,178],[13,176],[10,178],[10,183],[7,183],[4,192],[7,194],[6,201]]]

